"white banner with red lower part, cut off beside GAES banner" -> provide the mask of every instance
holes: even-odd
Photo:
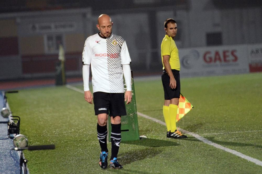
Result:
[[[248,45],[250,72],[262,71],[262,44]]]

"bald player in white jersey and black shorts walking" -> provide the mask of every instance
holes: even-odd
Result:
[[[83,81],[85,100],[94,101],[97,116],[97,138],[101,147],[99,165],[107,168],[107,120],[111,117],[111,157],[110,167],[121,169],[117,154],[121,142],[121,116],[127,115],[126,104],[132,100],[130,56],[125,40],[112,33],[111,17],[102,14],[98,17],[99,33],[88,37],[83,50]],[[92,70],[93,95],[89,90],[89,68]],[[127,90],[124,93],[124,82]],[[93,98],[94,96],[94,98]]]

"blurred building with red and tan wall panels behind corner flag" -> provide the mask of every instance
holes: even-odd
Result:
[[[59,44],[67,75],[81,74],[90,16],[90,8],[1,15],[0,79],[54,77]]]

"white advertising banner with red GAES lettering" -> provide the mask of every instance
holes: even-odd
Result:
[[[181,77],[249,73],[247,45],[179,49]]]

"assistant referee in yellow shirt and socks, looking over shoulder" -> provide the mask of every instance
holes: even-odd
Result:
[[[165,102],[163,115],[167,127],[168,138],[187,138],[176,127],[177,106],[180,97],[180,62],[174,37],[177,34],[177,23],[174,19],[167,19],[164,23],[166,35],[161,43],[161,58],[163,64],[162,84]]]

